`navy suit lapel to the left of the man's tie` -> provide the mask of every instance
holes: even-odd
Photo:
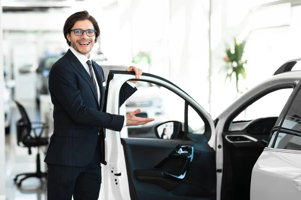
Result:
[[[93,83],[93,80],[91,78],[91,76],[89,75],[89,73],[86,71],[85,67],[80,63],[80,61],[77,59],[77,57],[72,53],[72,51],[69,49],[66,54],[65,54],[68,59],[70,60],[71,65],[75,68],[75,70],[77,72],[79,72],[79,74],[87,81],[87,83],[89,84],[90,88],[93,91],[95,100],[98,103],[98,96],[96,93],[96,88],[95,85]],[[94,69],[95,71],[95,69]],[[98,79],[97,79],[98,81]]]

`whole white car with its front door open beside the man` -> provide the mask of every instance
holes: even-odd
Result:
[[[273,129],[293,89],[300,88],[301,71],[291,71],[294,64],[295,60],[284,63],[271,77],[237,98],[215,120],[174,83],[143,73],[140,80],[158,84],[169,92],[170,103],[165,106],[168,117],[157,126],[157,138],[122,138],[119,132],[106,130],[107,164],[102,167],[101,199],[250,199],[251,178],[252,200],[284,199],[285,194],[285,199],[299,199],[300,129],[290,129],[299,123],[301,113],[286,117],[283,134],[274,132],[279,129],[277,126]],[[107,112],[119,113],[120,87],[134,78],[132,72],[110,71]],[[283,126],[282,118],[286,115],[282,111],[279,126]],[[162,136],[167,134],[166,123],[173,133]],[[276,135],[274,138],[284,140],[265,148],[271,131]],[[288,140],[293,150],[283,152],[273,148],[280,143],[287,146]],[[279,182],[279,177],[283,182]]]

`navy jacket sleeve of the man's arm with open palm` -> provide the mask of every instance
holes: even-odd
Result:
[[[83,103],[76,77],[68,65],[55,64],[49,73],[49,91],[78,122],[120,131],[124,116],[98,111]]]

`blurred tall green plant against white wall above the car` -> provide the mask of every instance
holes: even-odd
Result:
[[[230,79],[230,82],[232,80],[232,75],[235,75],[235,81],[236,81],[236,95],[241,93],[242,91],[239,90],[238,82],[239,77],[241,75],[242,79],[244,80],[246,78],[246,71],[245,67],[247,64],[247,60],[243,60],[242,56],[244,54],[244,47],[246,45],[246,40],[244,39],[240,43],[236,41],[236,38],[234,37],[234,46],[226,46],[226,56],[224,57],[224,60],[226,62],[225,69],[227,70],[227,77],[226,79]]]

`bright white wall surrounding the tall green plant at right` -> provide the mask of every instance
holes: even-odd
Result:
[[[211,115],[217,116],[236,97],[235,81],[226,81],[226,44],[233,37],[247,39],[244,58],[247,78],[242,87],[252,87],[269,77],[284,61],[299,57],[300,6],[272,0],[212,0],[211,20]],[[277,1],[280,3],[281,1]],[[287,2],[287,1],[286,1]],[[268,16],[268,17],[267,17]]]

